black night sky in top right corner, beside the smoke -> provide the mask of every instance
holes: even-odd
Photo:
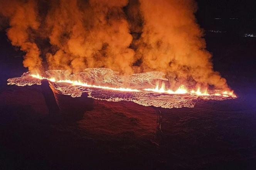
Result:
[[[256,32],[256,1],[198,0],[196,17],[205,30],[234,33]],[[221,18],[217,20],[215,18]]]

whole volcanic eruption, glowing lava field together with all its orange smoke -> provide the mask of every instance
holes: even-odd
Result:
[[[41,8],[45,3],[14,0],[0,7],[10,22],[8,38],[26,52],[30,70],[8,84],[47,79],[72,97],[87,92],[165,108],[236,98],[213,69],[192,0],[61,0]],[[34,74],[45,70],[47,76]]]

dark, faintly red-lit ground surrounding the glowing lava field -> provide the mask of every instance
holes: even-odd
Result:
[[[46,82],[7,85],[26,69],[1,32],[0,169],[255,169],[256,37],[242,35],[205,37],[235,100],[159,108],[160,114],[132,102],[58,95],[56,113]]]

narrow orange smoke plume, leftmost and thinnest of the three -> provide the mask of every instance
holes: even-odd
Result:
[[[26,52],[24,56],[24,67],[29,70],[39,70],[42,67],[40,51],[35,43],[34,31],[40,25],[37,20],[37,4],[34,1],[0,1],[0,14],[9,19],[10,28],[7,36],[12,45],[20,47]]]

